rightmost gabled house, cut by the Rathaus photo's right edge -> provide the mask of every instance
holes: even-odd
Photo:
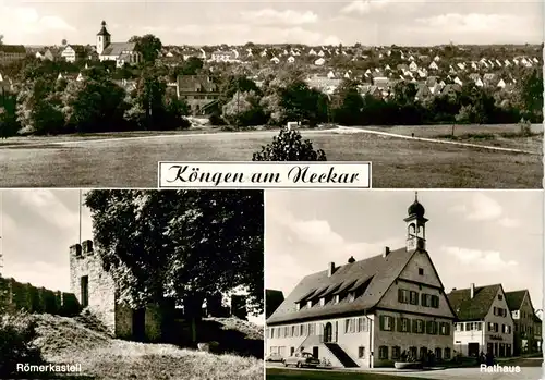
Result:
[[[528,290],[507,292],[506,298],[514,320],[514,355],[540,352],[542,340],[535,339],[536,316],[530,292]]]

